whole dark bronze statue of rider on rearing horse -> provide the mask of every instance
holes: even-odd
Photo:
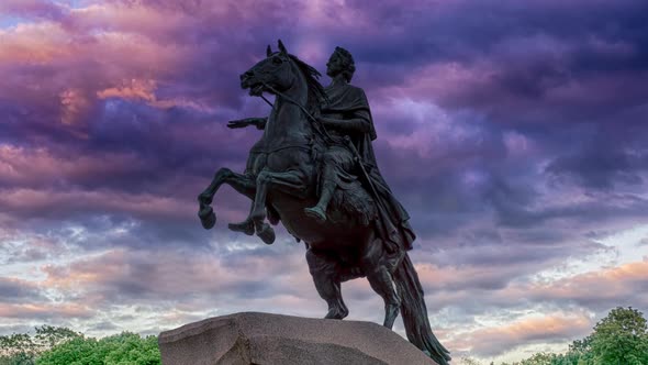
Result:
[[[267,49],[267,57],[241,76],[252,96],[276,96],[267,119],[232,121],[230,128],[255,125],[261,139],[250,150],[244,174],[216,172],[199,196],[205,229],[215,224],[210,207],[222,184],[253,200],[249,217],[230,224],[272,243],[270,223],[283,223],[305,242],[315,288],[328,305],[325,318],[348,314],[343,281],[367,277],[384,300],[383,325],[391,329],[399,311],[407,339],[444,365],[448,351],[432,332],[423,289],[407,251],[415,236],[409,215],[382,178],[371,146],[376,131],[362,89],[351,86],[354,59],[336,47],[327,63],[332,82],[287,52]]]

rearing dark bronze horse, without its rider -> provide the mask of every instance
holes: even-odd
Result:
[[[334,199],[329,210],[339,219],[322,223],[304,214],[304,208],[317,200],[316,151],[323,151],[327,142],[326,132],[312,113],[325,95],[313,67],[289,54],[281,41],[279,49],[272,52],[268,46],[267,57],[241,76],[242,88],[249,89],[252,96],[270,92],[276,99],[264,134],[250,151],[255,157],[247,174],[221,168],[198,197],[203,226],[215,224],[210,204],[220,186],[230,185],[254,200],[249,218],[257,234],[267,234],[266,211],[271,210],[292,235],[305,242],[315,288],[328,305],[325,318],[343,319],[348,314],[340,283],[367,277],[384,300],[383,325],[391,329],[400,311],[410,342],[438,364],[448,364],[449,352],[432,332],[423,289],[406,252],[399,253],[394,263],[372,221],[357,219],[353,210],[343,207],[361,201],[369,207],[364,208],[366,213],[375,214],[371,207],[376,202],[361,182],[357,189],[344,192],[350,196],[337,199],[337,203]]]

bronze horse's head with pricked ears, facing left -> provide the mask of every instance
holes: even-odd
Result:
[[[266,58],[241,75],[241,87],[249,89],[249,95],[260,96],[264,91],[272,92],[268,86],[278,91],[288,90],[298,77],[291,66],[291,58],[279,41],[279,52],[266,51]]]

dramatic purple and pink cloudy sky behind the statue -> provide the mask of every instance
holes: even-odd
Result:
[[[281,38],[336,45],[412,215],[431,322],[456,358],[563,351],[648,311],[645,0],[0,1],[0,334],[158,333],[238,311],[322,317],[297,244],[235,234],[228,187],[269,111],[238,75]],[[328,79],[322,79],[324,84]],[[381,322],[366,280],[349,319]],[[396,322],[402,333],[402,322]]]

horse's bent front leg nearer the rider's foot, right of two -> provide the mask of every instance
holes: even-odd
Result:
[[[302,189],[303,181],[303,175],[295,170],[272,173],[264,169],[257,176],[256,196],[254,198],[254,206],[249,218],[254,222],[257,235],[265,243],[270,244],[275,241],[275,231],[272,231],[272,228],[269,224],[265,223],[268,191],[270,191],[270,189],[286,192],[298,191]]]

